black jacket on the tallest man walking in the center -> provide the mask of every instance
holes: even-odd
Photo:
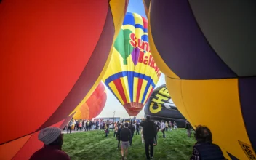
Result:
[[[143,127],[143,136],[144,137],[155,137],[157,133],[156,124],[151,120],[145,120],[140,123],[140,126]]]

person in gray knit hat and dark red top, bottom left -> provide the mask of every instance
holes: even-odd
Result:
[[[30,160],[70,160],[68,154],[61,150],[63,134],[60,128],[47,127],[41,129],[39,140],[44,143],[44,147],[33,153]]]

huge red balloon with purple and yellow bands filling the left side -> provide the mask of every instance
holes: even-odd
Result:
[[[97,87],[126,7],[125,0],[0,1],[1,159],[29,159],[42,146],[39,130],[60,127]]]

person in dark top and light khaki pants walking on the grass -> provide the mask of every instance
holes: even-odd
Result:
[[[120,140],[121,140],[121,159],[124,160],[128,156],[129,141],[131,139],[132,132],[128,129],[129,124],[124,124],[124,129],[121,129]]]

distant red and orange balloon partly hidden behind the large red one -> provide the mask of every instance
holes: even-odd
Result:
[[[107,100],[107,93],[102,82],[97,86],[88,100],[81,105],[81,107],[73,115],[74,119],[92,119],[103,111],[105,101]]]

